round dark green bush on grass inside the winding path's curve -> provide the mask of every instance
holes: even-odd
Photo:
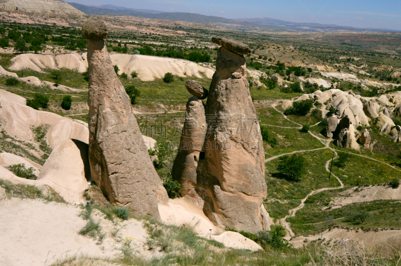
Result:
[[[302,154],[284,155],[279,157],[277,170],[292,180],[298,180],[306,174],[306,160]]]

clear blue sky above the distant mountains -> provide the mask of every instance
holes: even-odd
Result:
[[[271,17],[355,27],[401,30],[401,0],[68,0],[227,18]]]

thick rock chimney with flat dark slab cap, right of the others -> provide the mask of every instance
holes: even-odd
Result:
[[[198,194],[218,226],[257,232],[269,229],[263,141],[249,92],[245,57],[250,48],[213,37],[221,45],[205,107],[208,129]]]

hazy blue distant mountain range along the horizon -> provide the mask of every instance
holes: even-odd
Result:
[[[219,16],[208,16],[196,13],[185,12],[163,12],[151,9],[134,9],[122,6],[115,6],[111,4],[98,6],[87,6],[80,3],[70,2],[72,6],[88,15],[128,15],[146,18],[166,19],[172,21],[186,21],[202,24],[216,24],[225,28],[232,29],[260,29],[260,30],[291,30],[299,32],[337,32],[337,31],[397,31],[391,29],[377,29],[377,28],[356,28],[350,26],[340,26],[333,24],[319,24],[319,23],[299,23],[289,22],[281,19],[274,19],[269,17],[261,18],[239,18],[230,19]]]

